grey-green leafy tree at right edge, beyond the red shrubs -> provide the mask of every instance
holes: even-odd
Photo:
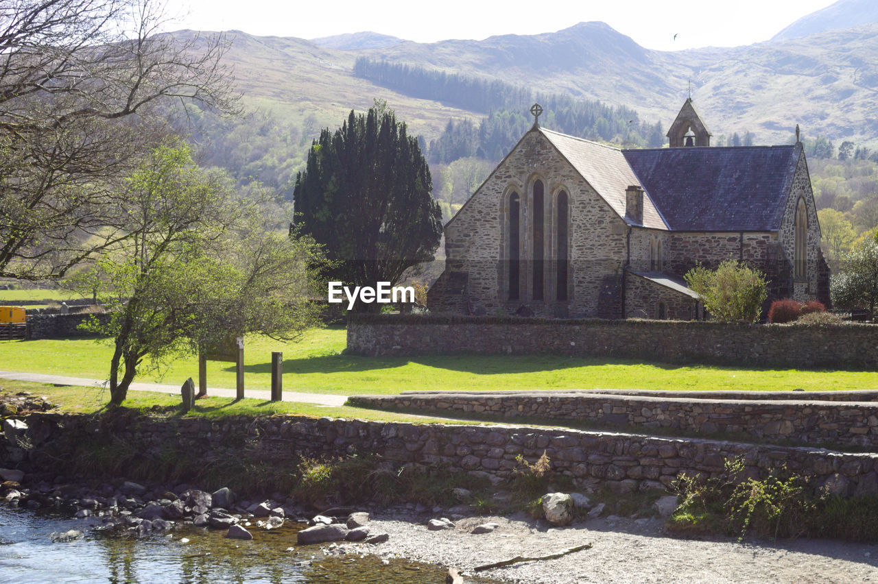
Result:
[[[835,306],[865,306],[869,316],[874,317],[878,303],[878,243],[873,238],[864,239],[845,255],[843,271],[830,281],[830,293]]]

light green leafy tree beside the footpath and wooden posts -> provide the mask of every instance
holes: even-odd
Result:
[[[112,404],[147,357],[162,363],[248,331],[291,338],[314,323],[313,244],[266,231],[255,202],[236,198],[225,175],[195,167],[187,146],[156,148],[123,195],[132,237],[82,279],[111,309],[91,328],[113,338]]]

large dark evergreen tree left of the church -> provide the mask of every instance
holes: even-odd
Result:
[[[335,263],[327,279],[396,283],[409,267],[433,260],[442,212],[432,188],[417,139],[392,110],[380,103],[365,115],[351,110],[341,128],[320,132],[296,179],[297,229]]]

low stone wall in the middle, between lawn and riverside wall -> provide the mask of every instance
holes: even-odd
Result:
[[[352,395],[351,405],[490,419],[535,417],[601,426],[673,428],[703,434],[747,433],[807,445],[878,445],[878,403],[703,400],[685,397],[531,392]]]

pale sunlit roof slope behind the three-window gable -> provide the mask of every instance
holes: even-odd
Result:
[[[620,217],[625,217],[625,189],[640,182],[625,160],[623,150],[545,128],[539,130],[598,195]],[[644,227],[667,229],[665,221],[648,196],[644,197]]]

